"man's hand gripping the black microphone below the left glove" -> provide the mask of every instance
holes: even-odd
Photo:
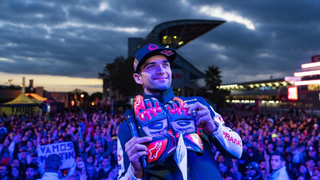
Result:
[[[139,162],[139,158],[144,155],[148,155],[148,148],[142,143],[152,141],[152,137],[132,137],[127,143],[125,143],[125,152],[127,153],[131,162],[132,173],[136,178],[142,178],[142,167]]]

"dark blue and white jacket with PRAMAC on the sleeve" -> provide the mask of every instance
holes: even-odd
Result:
[[[146,95],[143,97],[145,99],[156,98],[159,100],[162,106],[165,103],[172,101],[174,97],[172,88],[160,95]],[[242,154],[242,141],[240,136],[232,131],[229,127],[224,125],[222,117],[216,113],[213,108],[204,100],[204,98],[199,96],[193,97],[179,97],[187,104],[193,104],[200,102],[201,104],[208,107],[210,110],[211,117],[218,127],[217,130],[211,134],[205,134],[201,128],[195,129],[196,133],[200,136],[203,142],[203,153],[198,153],[194,151],[188,151],[188,179],[190,180],[205,180],[205,179],[222,179],[220,171],[218,169],[217,163],[214,160],[214,155],[210,148],[210,143],[213,143],[217,149],[226,157],[232,159],[240,159]],[[133,176],[131,163],[129,157],[125,152],[124,144],[127,143],[132,138],[130,130],[127,124],[124,122],[119,127],[118,133],[118,147],[117,147],[117,157],[118,157],[118,168],[119,176],[118,180],[136,180]],[[149,180],[176,180],[183,179],[182,173],[174,160],[174,153],[171,154],[164,161],[157,164],[148,164],[145,170],[147,179]]]

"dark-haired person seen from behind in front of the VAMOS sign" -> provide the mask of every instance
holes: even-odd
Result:
[[[60,180],[58,171],[61,168],[61,158],[58,154],[50,154],[45,160],[45,173],[38,180]]]

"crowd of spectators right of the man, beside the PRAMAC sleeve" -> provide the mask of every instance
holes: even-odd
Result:
[[[243,143],[240,160],[225,158],[212,145],[223,178],[286,179],[279,177],[280,170],[285,169],[292,180],[320,180],[320,119],[304,111],[292,112],[282,116],[222,113],[225,124],[241,136]]]

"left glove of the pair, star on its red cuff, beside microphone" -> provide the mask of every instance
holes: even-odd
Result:
[[[152,137],[147,145],[148,162],[156,164],[169,157],[177,148],[175,137],[168,132],[168,120],[156,98],[136,96],[134,112],[139,126],[146,136]]]

